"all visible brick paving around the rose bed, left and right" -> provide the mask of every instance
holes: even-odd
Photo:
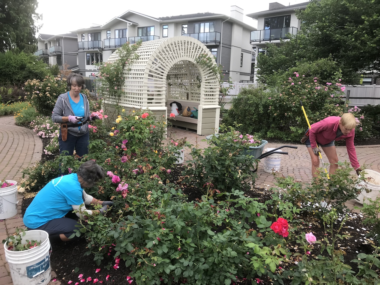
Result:
[[[198,148],[204,149],[208,146],[205,136],[198,136],[193,131],[185,131],[180,128],[173,128],[172,131],[176,138],[187,137],[188,141]],[[266,147],[278,147],[279,144],[268,144]],[[289,155],[282,155],[280,174],[285,176],[294,176],[297,180],[310,182],[311,165],[309,154],[304,145],[296,145],[298,149],[283,149],[289,152]],[[0,117],[0,177],[8,180],[18,180],[21,178],[21,170],[32,166],[36,160],[41,159],[42,143],[40,138],[32,130],[14,125],[13,117]],[[366,163],[367,168],[380,172],[380,145],[377,146],[357,146],[356,153],[361,165]],[[337,147],[339,160],[348,160],[346,148]],[[189,150],[185,150],[185,161],[191,160]],[[327,161],[327,158],[324,157]],[[371,165],[370,165],[371,164]],[[257,171],[258,178],[256,186],[269,188],[274,185],[274,177],[263,170],[263,162],[260,162]],[[6,220],[0,220],[0,241],[5,239],[9,234],[15,232],[17,226],[24,226],[21,217],[22,195],[18,195],[19,204],[17,206],[17,215]],[[352,209],[356,203],[347,202],[347,206]],[[361,206],[360,204],[357,204]],[[54,276],[54,271],[52,271]],[[12,285],[9,274],[9,267],[5,261],[3,245],[0,245],[0,284]],[[49,284],[60,284],[50,282]]]

